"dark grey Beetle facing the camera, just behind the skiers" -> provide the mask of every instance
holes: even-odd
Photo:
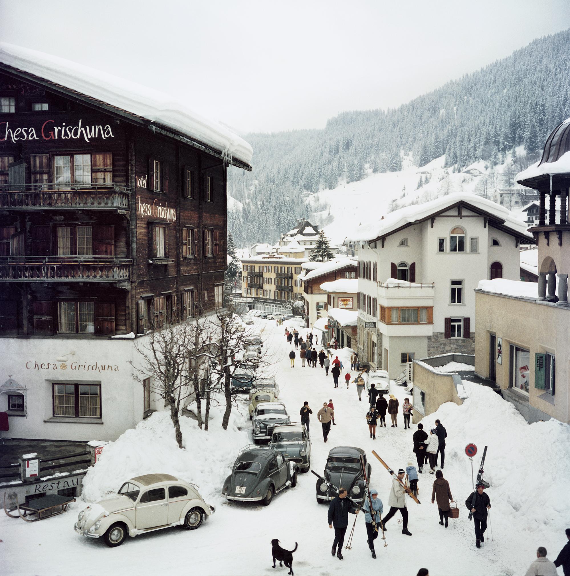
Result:
[[[348,490],[348,495],[354,501],[364,503],[364,479],[360,468],[360,454],[364,456],[364,465],[368,480],[372,472],[371,465],[366,460],[366,453],[361,448],[354,446],[337,446],[329,452],[327,464],[324,467],[324,479]],[[328,502],[337,495],[324,482],[316,482],[316,501]]]

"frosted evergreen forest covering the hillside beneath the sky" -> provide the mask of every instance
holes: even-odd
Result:
[[[534,161],[568,116],[570,30],[395,109],[342,112],[322,130],[246,134],[254,170],[229,170],[228,194],[243,203],[228,209],[229,231],[241,247],[275,241],[309,216],[307,192],[361,180],[367,167],[401,170],[401,152],[417,166],[445,154],[450,171],[479,160],[501,164],[520,145]]]

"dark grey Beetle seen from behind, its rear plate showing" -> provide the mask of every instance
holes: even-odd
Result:
[[[261,502],[269,506],[278,492],[294,488],[299,467],[273,448],[247,446],[239,453],[222,494],[228,500]]]

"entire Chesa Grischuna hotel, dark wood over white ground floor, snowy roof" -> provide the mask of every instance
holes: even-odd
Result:
[[[251,169],[251,147],[125,86],[0,48],[0,381],[22,391],[0,386],[12,437],[118,437],[164,408],[134,381],[137,342],[222,305],[227,168]]]

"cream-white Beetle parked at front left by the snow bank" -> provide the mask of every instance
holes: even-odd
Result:
[[[145,474],[124,482],[117,494],[81,510],[73,528],[82,536],[103,537],[105,544],[115,547],[127,536],[171,526],[195,530],[214,511],[194,484],[169,474]]]

